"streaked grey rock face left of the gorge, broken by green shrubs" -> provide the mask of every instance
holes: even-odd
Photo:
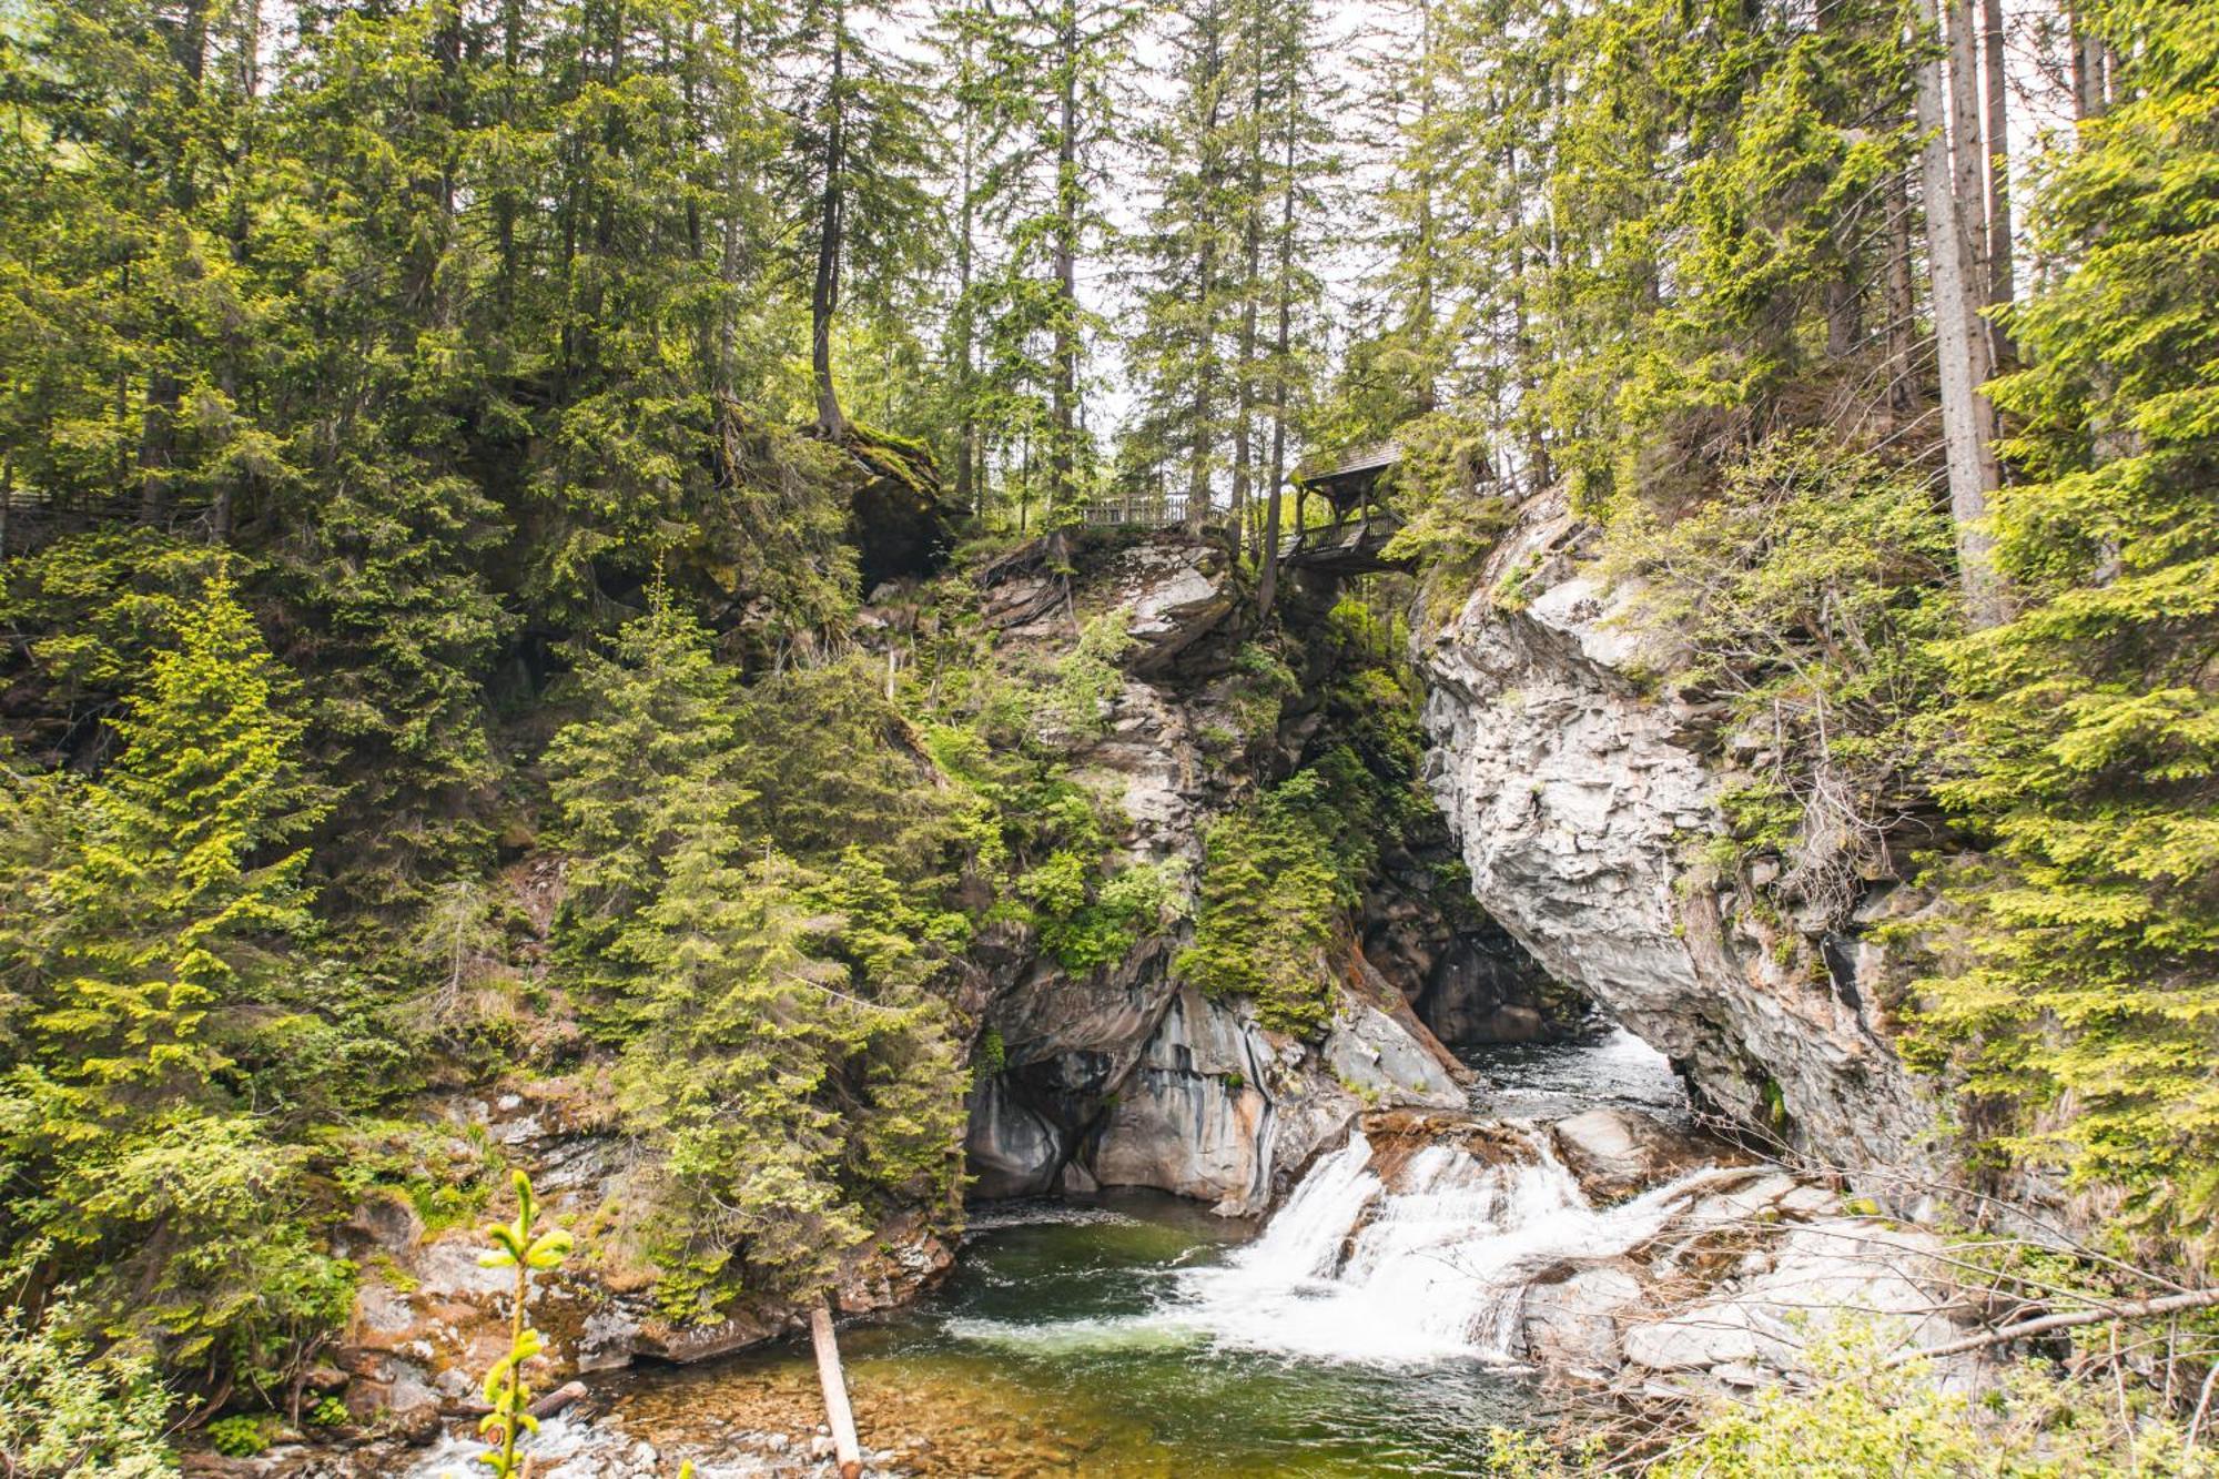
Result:
[[[1245,748],[1225,742],[1254,724],[1232,664],[1243,604],[1229,582],[1220,549],[1165,533],[1083,562],[1067,604],[1050,573],[996,580],[985,593],[1012,651],[1056,651],[1072,642],[1074,615],[1125,613],[1136,646],[1101,737],[1072,759],[1129,819],[1134,862],[1200,862],[1207,822],[1289,757],[1283,742],[1300,740],[1296,717]],[[1267,1030],[1245,1002],[1181,986],[1181,935],[1143,942],[1092,975],[1005,942],[1010,953],[985,964],[985,1028],[1001,1070],[972,1097],[974,1195],[1147,1186],[1256,1215],[1365,1106],[1460,1104],[1456,1062],[1405,997],[1420,995],[1442,959],[1462,959],[1458,928],[1416,904],[1391,930],[1380,924],[1376,939],[1398,942],[1387,962],[1398,979],[1371,966],[1362,942],[1320,959],[1338,982],[1323,1042]]]

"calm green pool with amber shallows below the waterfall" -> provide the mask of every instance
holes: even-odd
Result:
[[[1240,1228],[1167,1197],[1003,1208],[914,1308],[841,1337],[863,1439],[930,1475],[1478,1475],[1531,1390],[1478,1361],[1351,1364],[1236,1348],[1183,1270]],[[1254,1341],[1254,1335],[1249,1337]],[[695,1437],[808,1417],[808,1348],[639,1372],[628,1430]]]

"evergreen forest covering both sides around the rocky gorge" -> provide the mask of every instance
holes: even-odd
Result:
[[[2208,1268],[2219,7],[2002,13],[0,7],[0,1339],[284,1388],[515,1064],[650,1150],[675,1319],[954,1217],[965,953],[1187,913],[1056,748],[1123,631],[999,668],[956,546],[1207,526],[1260,644],[1298,455],[1385,437],[1387,602],[1560,497],[1777,737],[1711,862],[1944,899],[1966,1181]],[[1422,766],[1362,682],[1194,859],[1185,968],[1296,1033]]]

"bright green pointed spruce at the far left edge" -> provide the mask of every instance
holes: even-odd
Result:
[[[313,1048],[257,1030],[302,1004],[320,811],[302,722],[222,575],[175,615],[93,782],[9,773],[0,1144],[9,1257],[80,1288],[78,1317],[175,1368],[268,1379],[337,1324],[351,1270],[308,1237],[304,1106],[257,1106]]]

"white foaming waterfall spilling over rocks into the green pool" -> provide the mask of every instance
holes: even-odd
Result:
[[[1529,1159],[1500,1166],[1427,1146],[1389,1186],[1356,1130],[1254,1244],[1183,1275],[1176,1312],[1232,1346],[1327,1361],[1513,1361],[1538,1272],[1633,1248],[1718,1175],[1598,1210],[1547,1137],[1524,1144]]]

